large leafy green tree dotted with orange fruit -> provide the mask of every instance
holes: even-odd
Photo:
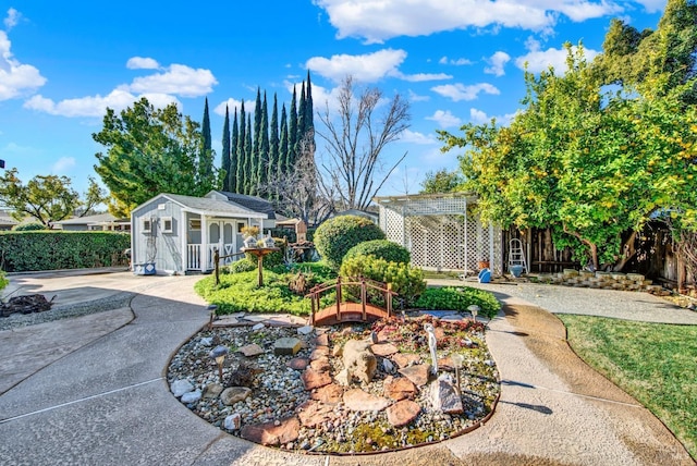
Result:
[[[485,220],[551,228],[558,247],[596,267],[620,270],[634,254],[636,232],[671,212],[695,224],[697,112],[681,93],[664,96],[653,79],[627,93],[604,89],[570,45],[568,71],[526,73],[525,110],[510,126],[465,125],[440,132],[443,150],[466,147],[465,187],[479,195]],[[634,232],[623,243],[623,234]]]

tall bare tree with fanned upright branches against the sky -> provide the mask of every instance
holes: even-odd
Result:
[[[365,210],[406,157],[404,152],[394,164],[387,165],[381,152],[409,127],[409,105],[396,94],[384,106],[382,91],[376,87],[356,95],[352,76],[342,82],[337,100],[338,115],[332,114],[329,102],[319,114],[326,132],[317,134],[327,143],[322,169],[344,209]],[[379,108],[386,110],[382,115],[377,114]]]

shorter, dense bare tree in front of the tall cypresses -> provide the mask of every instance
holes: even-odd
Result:
[[[307,225],[317,225],[333,212],[334,196],[326,186],[315,163],[311,133],[298,143],[297,160],[291,173],[273,175],[262,192],[278,198],[278,209],[288,217],[302,219]]]

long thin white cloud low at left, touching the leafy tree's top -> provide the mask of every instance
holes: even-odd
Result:
[[[139,100],[142,97],[147,98],[156,108],[167,107],[172,102],[181,107],[181,103],[174,96],[167,94],[154,93],[136,96],[124,89],[114,89],[103,97],[100,95],[87,96],[76,99],[64,99],[59,102],[41,95],[36,95],[24,102],[24,108],[61,116],[102,116],[107,107],[114,111],[121,111],[132,106],[133,102]]]

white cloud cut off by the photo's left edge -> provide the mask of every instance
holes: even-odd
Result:
[[[0,101],[35,91],[46,84],[46,77],[30,64],[20,63],[10,51],[12,42],[0,30]]]

